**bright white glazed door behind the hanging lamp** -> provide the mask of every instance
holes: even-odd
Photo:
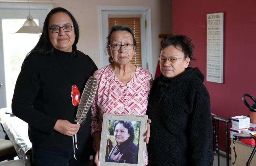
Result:
[[[40,27],[48,10],[30,9],[30,14]],[[11,107],[21,64],[40,37],[39,34],[13,34],[23,25],[28,14],[28,9],[4,9],[0,6],[0,108]]]

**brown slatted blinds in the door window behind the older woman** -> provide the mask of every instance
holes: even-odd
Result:
[[[127,25],[134,33],[137,43],[137,51],[133,56],[132,63],[142,67],[141,58],[141,36],[140,36],[140,18],[141,15],[108,15],[108,29],[110,30],[113,25]]]

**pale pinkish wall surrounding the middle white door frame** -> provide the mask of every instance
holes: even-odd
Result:
[[[93,58],[93,51],[99,50],[98,6],[150,6],[152,18],[152,75],[155,75],[157,57],[159,56],[159,34],[172,33],[171,0],[55,0],[54,7],[69,10],[80,27],[77,49],[88,54],[99,67],[99,58]]]

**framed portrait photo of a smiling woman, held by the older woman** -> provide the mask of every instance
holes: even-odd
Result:
[[[144,165],[147,119],[147,115],[104,114],[99,165]]]

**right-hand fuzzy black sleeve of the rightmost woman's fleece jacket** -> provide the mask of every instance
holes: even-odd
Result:
[[[201,87],[192,92],[192,120],[190,128],[191,165],[211,166],[213,164],[213,129],[208,91]]]

